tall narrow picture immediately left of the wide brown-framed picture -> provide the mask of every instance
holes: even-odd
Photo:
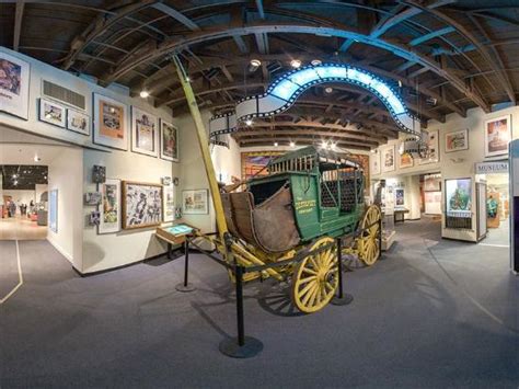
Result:
[[[97,233],[120,230],[120,180],[107,179],[100,185],[101,209]]]

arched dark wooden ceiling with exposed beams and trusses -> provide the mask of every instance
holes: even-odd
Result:
[[[8,0],[0,11],[1,45],[102,84],[146,89],[174,114],[187,112],[170,60],[175,52],[200,106],[215,113],[263,92],[291,59],[373,71],[400,88],[424,125],[474,106],[516,104],[519,4],[507,0]],[[262,62],[255,71],[251,59]],[[316,85],[287,115],[254,127],[235,138],[261,145],[328,137],[371,148],[396,136],[374,96],[344,84]]]

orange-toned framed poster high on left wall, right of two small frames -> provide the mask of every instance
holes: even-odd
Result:
[[[116,100],[94,93],[94,130],[96,145],[128,150],[128,107]]]

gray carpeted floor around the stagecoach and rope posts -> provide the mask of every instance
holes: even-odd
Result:
[[[218,351],[233,297],[204,256],[185,295],[182,260],[80,278],[48,243],[21,242],[25,285],[0,306],[0,387],[517,388],[508,251],[441,241],[438,224],[397,229],[383,261],[346,273],[350,306],[299,316],[276,284],[247,285],[246,330],[264,351],[246,361]]]

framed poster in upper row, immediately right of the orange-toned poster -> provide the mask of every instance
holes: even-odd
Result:
[[[131,151],[157,157],[159,119],[131,106]]]

